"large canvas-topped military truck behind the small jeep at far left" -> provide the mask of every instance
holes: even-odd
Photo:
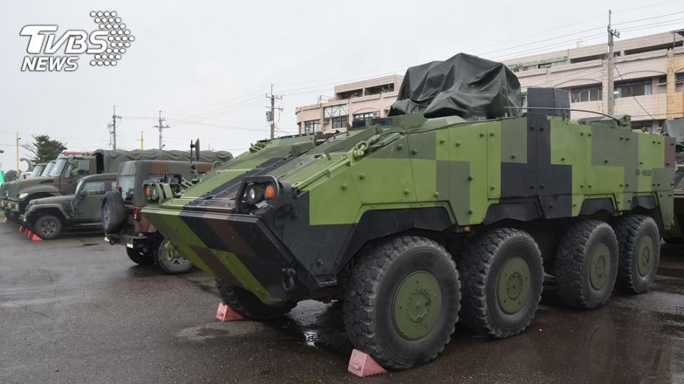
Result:
[[[224,161],[232,158],[232,154],[226,151],[202,151],[201,156],[203,161]],[[0,206],[8,218],[19,222],[19,215],[24,213],[29,201],[35,198],[70,195],[76,191],[77,181],[84,176],[113,173],[123,161],[144,159],[189,161],[190,152],[97,149],[86,154],[61,156],[56,159],[53,169],[46,177],[13,183],[11,188],[7,188],[5,196],[0,196]]]

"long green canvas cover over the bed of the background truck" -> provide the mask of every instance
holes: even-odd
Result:
[[[123,149],[97,149],[93,151],[93,156],[102,158],[102,172],[117,172],[119,164],[124,161],[133,160],[167,160],[167,161],[190,161],[190,151],[160,151],[159,149],[135,149],[126,151]],[[194,157],[194,156],[193,156]],[[233,158],[228,151],[200,151],[199,161],[213,163],[217,161],[223,164]],[[193,159],[195,160],[195,159]],[[99,163],[98,159],[98,163]],[[99,166],[99,165],[98,165]],[[99,170],[98,170],[99,171]]]

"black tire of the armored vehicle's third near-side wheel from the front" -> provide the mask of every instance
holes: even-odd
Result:
[[[608,282],[594,289],[590,282],[589,252],[605,243],[611,254]],[[605,304],[611,297],[618,275],[618,240],[613,228],[599,220],[582,220],[570,225],[556,251],[556,288],[561,301],[579,309],[592,309]]]

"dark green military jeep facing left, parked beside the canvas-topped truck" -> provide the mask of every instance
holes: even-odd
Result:
[[[102,230],[100,206],[105,193],[115,190],[116,174],[81,178],[76,193],[36,198],[28,202],[21,223],[43,240],[58,238],[63,230],[99,232]]]

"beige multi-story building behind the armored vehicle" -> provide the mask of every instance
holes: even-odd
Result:
[[[630,114],[633,127],[656,132],[665,119],[684,117],[683,40],[684,31],[673,31],[615,41],[615,112]],[[523,105],[527,88],[558,87],[569,90],[571,108],[606,113],[606,52],[605,43],[594,46],[578,43],[576,48],[513,58],[503,63],[518,76]],[[386,116],[401,80],[396,75],[336,86],[335,97],[328,102],[296,109],[300,132],[343,130],[356,117]],[[571,113],[573,117],[591,116],[586,112]]]

